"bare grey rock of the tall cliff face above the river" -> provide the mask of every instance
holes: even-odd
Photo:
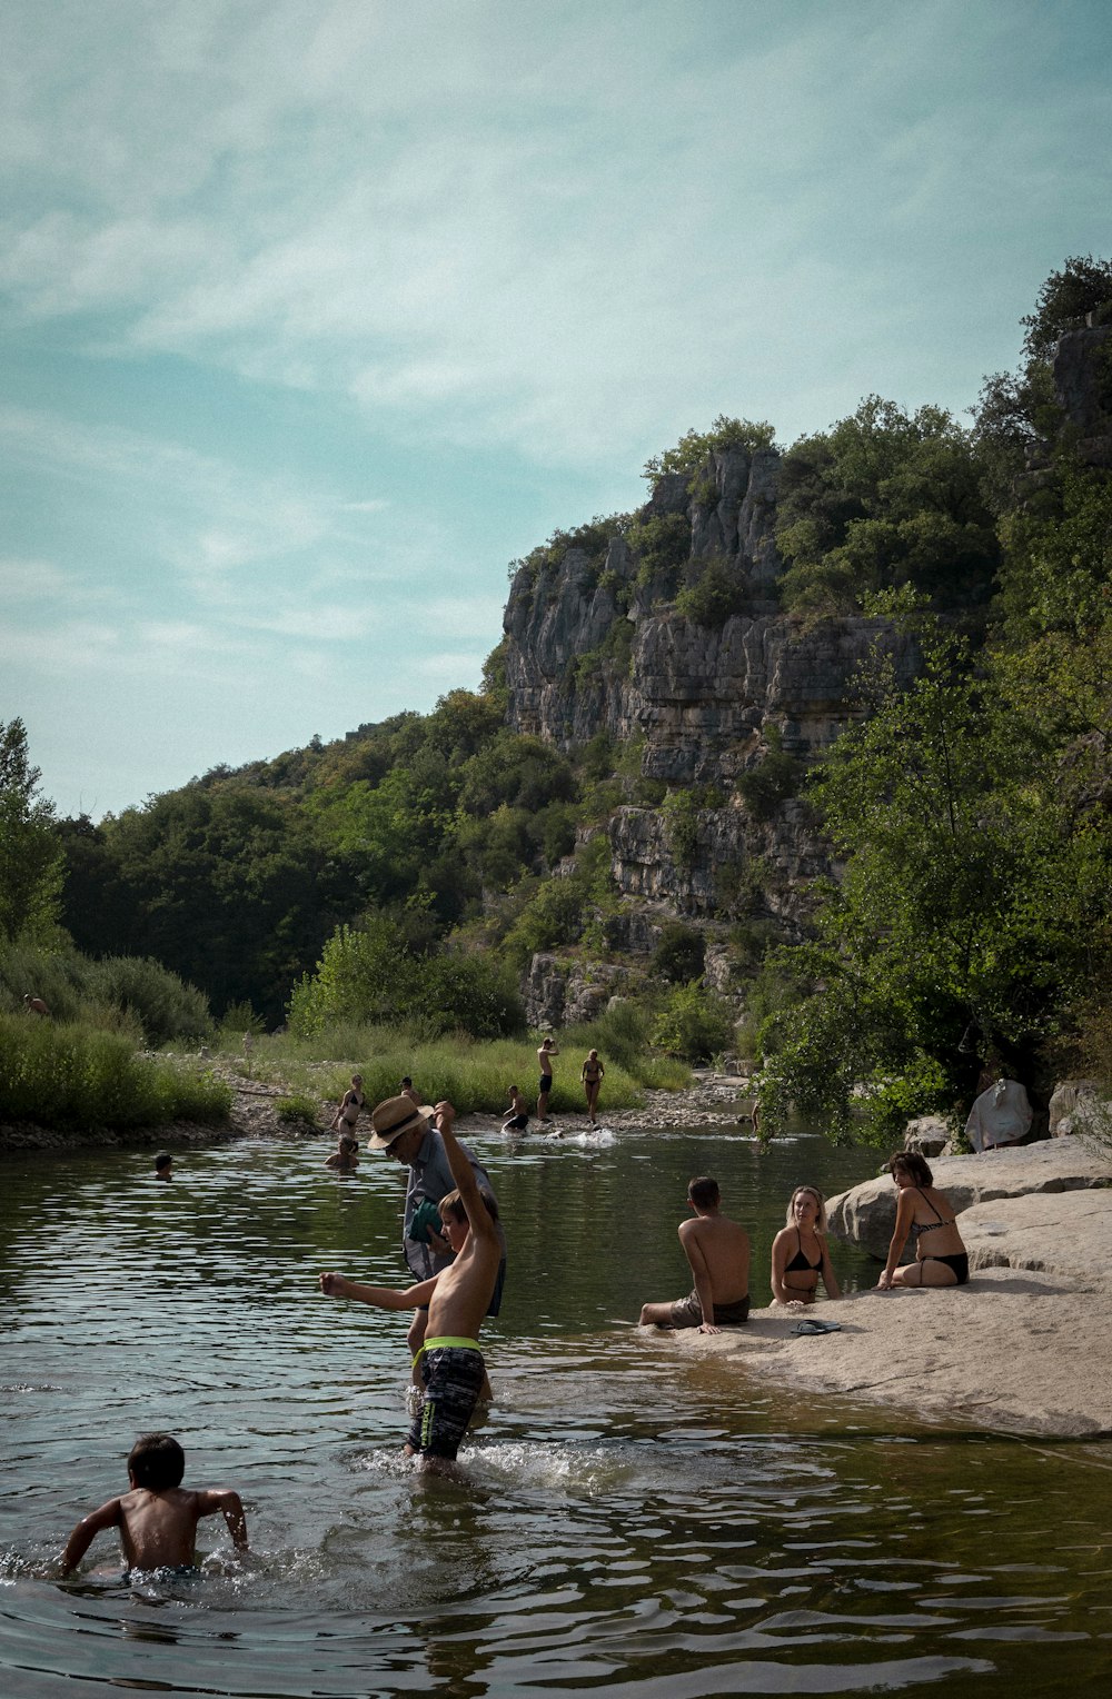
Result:
[[[797,931],[806,883],[830,872],[814,821],[792,795],[755,809],[740,782],[770,751],[796,758],[803,773],[830,746],[874,642],[891,646],[901,669],[915,668],[915,654],[884,622],[804,627],[777,613],[777,462],[774,452],[728,450],[699,477],[663,477],[605,559],[570,549],[536,576],[522,567],[510,590],[513,729],[565,749],[600,731],[619,746],[638,739],[641,775],[661,799],[689,793],[682,841],[667,804],[622,807],[610,821],[612,873],[641,916],[631,921],[634,953],[651,946],[670,916],[706,924],[760,912],[787,934]],[[677,516],[682,559],[638,550],[634,540],[651,542],[655,520],[672,520],[675,535]],[[745,608],[718,629],[675,607],[711,562]],[[546,960],[529,987],[537,1019],[559,1018],[553,975],[558,963]]]

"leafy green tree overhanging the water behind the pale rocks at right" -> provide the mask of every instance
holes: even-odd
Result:
[[[762,1035],[767,1125],[789,1103],[886,1140],[911,1113],[967,1103],[973,1033],[1030,1055],[1088,984],[1107,912],[1107,831],[1078,831],[1058,742],[1007,678],[920,622],[922,676],[901,690],[877,656],[872,715],[814,775],[845,873],[816,938],[779,958],[821,987]],[[864,1096],[855,1096],[864,1089]]]

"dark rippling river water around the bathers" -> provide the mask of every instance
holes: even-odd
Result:
[[[791,1189],[874,1154],[474,1145],[510,1274],[462,1482],[401,1461],[405,1318],[316,1293],[323,1267],[405,1284],[396,1164],[338,1177],[323,1142],[180,1152],[168,1186],[146,1152],[0,1164],[3,1699],[1112,1691],[1110,1444],[770,1391],[631,1325],[689,1290],[692,1174],[752,1228],[760,1305]],[[185,1446],[185,1485],[240,1490],[252,1560],[216,1517],[201,1578],[124,1585],[104,1534],[61,1582],[150,1429]]]

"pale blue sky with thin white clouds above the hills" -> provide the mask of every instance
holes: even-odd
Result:
[[[476,688],[726,413],[967,423],[1112,255],[1107,0],[3,0],[0,720],[94,819]]]

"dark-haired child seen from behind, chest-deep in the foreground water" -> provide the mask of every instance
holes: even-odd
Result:
[[[197,1522],[219,1510],[236,1551],[247,1551],[247,1519],[240,1495],[230,1488],[187,1492],[180,1480],[185,1453],[170,1434],[143,1434],[128,1456],[131,1492],[109,1499],[77,1524],[61,1555],[63,1570],[75,1568],[97,1534],[117,1527],[128,1570],[192,1570]]]

